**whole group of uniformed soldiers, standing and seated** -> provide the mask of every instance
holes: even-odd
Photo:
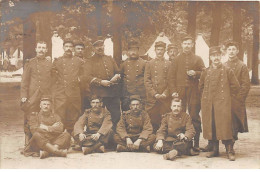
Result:
[[[225,45],[224,64],[221,48],[211,47],[207,69],[190,36],[182,39],[180,52],[168,45],[170,60],[164,58],[166,43],[156,42],[156,58],[146,61],[131,40],[120,67],[104,54],[103,40],[92,45],[94,54],[85,57],[82,42],[65,40],[64,55],[52,63],[47,44],[37,42],[21,82],[24,155],[66,157],[70,147],[86,155],[112,145],[117,152],[154,150],[167,160],[201,150],[210,158],[219,155],[222,140],[228,159],[235,160],[238,132],[248,132],[250,89],[236,42]],[[205,148],[199,146],[201,121]]]

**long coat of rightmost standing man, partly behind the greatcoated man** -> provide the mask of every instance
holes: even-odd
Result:
[[[238,94],[231,98],[231,110],[233,117],[233,134],[237,138],[238,132],[248,132],[246,115],[246,97],[250,90],[249,71],[247,66],[239,59],[228,60],[224,65],[231,68],[240,84]]]

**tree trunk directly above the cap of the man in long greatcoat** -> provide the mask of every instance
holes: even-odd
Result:
[[[221,2],[214,2],[212,8],[212,26],[210,35],[210,46],[219,45],[219,35],[221,28]]]

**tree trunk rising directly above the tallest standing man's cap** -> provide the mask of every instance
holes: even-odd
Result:
[[[196,18],[197,18],[197,2],[188,2],[188,26],[187,33],[196,39]],[[195,46],[193,47],[195,52]]]

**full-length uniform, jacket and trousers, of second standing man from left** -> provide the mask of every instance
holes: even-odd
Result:
[[[72,132],[81,111],[80,82],[84,80],[84,62],[78,57],[62,56],[53,62],[54,107],[65,129]]]

